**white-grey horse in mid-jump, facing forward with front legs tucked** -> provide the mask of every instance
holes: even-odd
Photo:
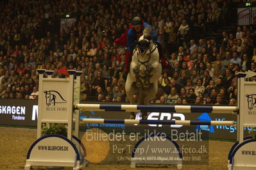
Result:
[[[157,44],[153,41],[153,31],[146,26],[139,38],[137,47],[133,50],[130,72],[128,73],[125,89],[131,104],[135,104],[133,95],[138,93],[138,105],[149,105],[158,90],[157,81],[162,72],[159,62]],[[142,119],[146,120],[147,112],[142,112]],[[135,119],[132,112],[130,119]]]

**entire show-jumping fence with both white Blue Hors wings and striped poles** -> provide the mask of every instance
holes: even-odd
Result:
[[[43,77],[46,72],[48,78]],[[50,78],[51,72],[45,70],[38,70],[39,73],[39,95],[38,95],[38,124],[37,124],[37,141],[32,144],[27,160],[25,169],[30,169],[30,166],[71,166],[73,169],[81,169],[83,160],[83,151],[80,150],[79,141],[74,142],[72,123],[75,121],[75,132],[78,134],[79,128],[79,115],[73,115],[73,109],[83,109],[85,111],[128,111],[128,112],[211,112],[211,113],[229,113],[237,114],[237,143],[234,144],[230,153],[228,154],[228,169],[255,169],[256,158],[254,152],[256,150],[255,139],[244,139],[244,127],[256,127],[256,89],[255,82],[246,82],[245,78],[252,77],[256,73],[238,73],[238,105],[237,106],[198,106],[198,105],[103,105],[103,104],[79,104],[80,93],[73,93],[74,82],[75,87],[80,88],[80,75],[81,73],[74,70],[69,70],[69,78],[67,79],[52,79]],[[77,79],[74,81],[74,75]],[[249,76],[250,75],[250,76]],[[76,99],[73,100],[73,96]],[[254,106],[255,105],[255,106]],[[78,112],[78,111],[76,111]],[[160,124],[160,125],[234,125],[234,121],[154,121],[154,120],[104,120],[104,119],[83,119],[87,123],[119,123],[129,125],[143,125],[143,124]],[[45,135],[41,136],[42,123],[67,123],[67,137],[60,137],[58,135]],[[155,136],[149,136],[155,137]],[[169,140],[169,144],[173,144],[173,148],[179,148],[178,144]],[[78,143],[78,144],[77,144]],[[146,141],[140,141],[136,144],[136,148],[145,144]],[[40,146],[49,146],[53,150],[38,150]],[[66,157],[61,157],[65,148],[70,152],[65,152]],[[64,148],[64,149],[63,149]],[[73,148],[73,149],[72,149]],[[243,151],[253,153],[251,155],[244,155]],[[44,153],[45,152],[45,153]],[[61,153],[61,154],[60,154]],[[177,167],[182,167],[182,153],[177,153],[179,159],[173,164]],[[135,157],[135,153],[132,158]],[[135,167],[136,162],[132,160],[131,166]],[[141,163],[141,162],[140,162]],[[152,164],[158,162],[146,162]]]

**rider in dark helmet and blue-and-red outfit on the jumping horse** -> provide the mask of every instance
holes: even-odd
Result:
[[[167,61],[166,61],[166,59],[164,59],[162,45],[159,42],[159,40],[157,39],[157,33],[155,33],[153,27],[151,25],[149,25],[147,22],[144,22],[141,19],[141,17],[134,17],[132,19],[132,25],[129,26],[129,29],[128,29],[127,35],[126,35],[127,36],[126,38],[127,38],[128,52],[126,52],[124,72],[129,72],[130,63],[132,60],[132,51],[136,47],[139,37],[142,36],[142,34],[143,34],[142,32],[146,26],[151,27],[151,29],[153,31],[153,40],[154,40],[154,42],[157,43],[158,52],[160,54],[162,65],[163,66],[167,65]],[[124,35],[125,35],[125,33],[124,33]],[[117,38],[117,40],[115,40],[117,45],[120,44],[120,43],[118,44],[118,42],[123,41],[122,37],[124,38],[125,36],[121,36],[121,38]]]

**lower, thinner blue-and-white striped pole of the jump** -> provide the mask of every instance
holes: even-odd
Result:
[[[194,120],[107,120],[107,119],[91,119],[83,118],[81,119],[84,123],[114,123],[114,124],[125,124],[125,125],[230,125],[234,126],[235,121],[194,121]]]

